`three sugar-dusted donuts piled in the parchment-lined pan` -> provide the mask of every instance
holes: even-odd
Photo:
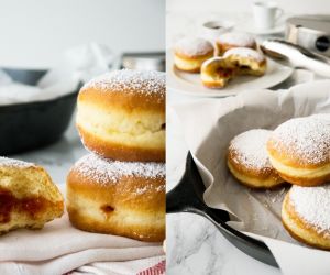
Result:
[[[329,114],[239,134],[229,144],[228,167],[252,188],[290,184],[282,206],[284,227],[295,239],[330,250]]]

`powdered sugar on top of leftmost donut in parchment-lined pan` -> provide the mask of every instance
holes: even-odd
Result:
[[[272,131],[254,129],[237,135],[229,150],[234,152],[233,161],[253,169],[273,169],[266,152],[266,142]]]

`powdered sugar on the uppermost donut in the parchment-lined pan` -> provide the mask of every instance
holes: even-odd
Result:
[[[320,117],[296,118],[274,130],[272,146],[301,164],[330,161],[330,121]]]

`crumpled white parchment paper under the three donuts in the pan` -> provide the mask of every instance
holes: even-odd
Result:
[[[330,113],[330,80],[288,90],[255,90],[231,98],[205,99],[176,106],[175,110],[207,187],[206,204],[230,211],[232,227],[263,240],[283,273],[330,274],[330,253],[302,246],[282,226],[280,205],[288,188],[253,191],[238,184],[226,164],[229,142],[239,133],[274,129],[295,117]]]

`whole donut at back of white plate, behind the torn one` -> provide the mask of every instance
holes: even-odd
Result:
[[[223,55],[228,50],[233,47],[256,48],[256,42],[251,34],[241,32],[229,32],[221,34],[216,40],[218,55]]]

